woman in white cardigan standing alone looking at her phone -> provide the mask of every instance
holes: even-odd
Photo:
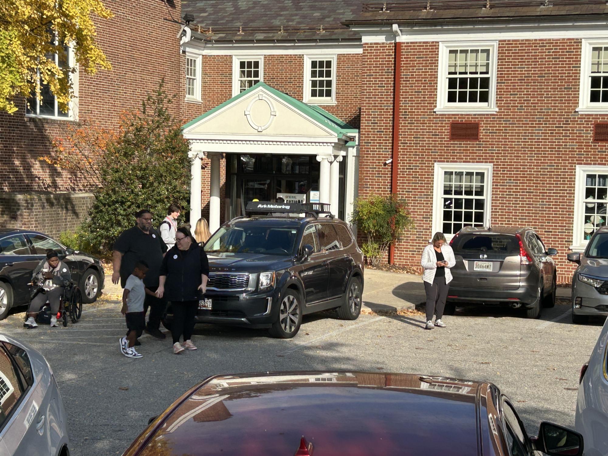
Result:
[[[424,247],[420,266],[424,273],[424,291],[426,292],[426,326],[424,329],[432,330],[435,326],[445,328],[441,321],[443,309],[446,306],[447,291],[452,281],[450,268],[454,268],[456,259],[454,250],[446,243],[446,237],[441,232],[435,233],[431,243]],[[433,323],[433,316],[436,316]]]

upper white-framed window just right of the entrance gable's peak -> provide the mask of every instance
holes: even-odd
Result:
[[[304,102],[313,105],[336,103],[336,56],[304,56]]]

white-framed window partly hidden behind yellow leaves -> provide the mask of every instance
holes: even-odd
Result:
[[[74,66],[74,52],[71,47],[63,46],[63,52],[58,54],[50,54],[46,56],[53,60],[58,67],[66,68]],[[57,103],[57,97],[50,91],[48,84],[44,84],[40,79],[40,70],[38,71],[38,83],[40,84],[40,97],[32,94],[32,97],[27,98],[26,116],[29,117],[46,117],[49,119],[65,119],[75,120],[77,117],[77,109],[75,99],[78,95],[77,72],[71,74],[72,83],[74,85],[74,98],[68,103],[68,110],[62,111]]]

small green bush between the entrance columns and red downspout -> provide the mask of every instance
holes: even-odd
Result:
[[[396,195],[357,198],[351,222],[367,238],[361,250],[374,267],[378,267],[390,244],[399,241],[405,230],[413,227],[407,202]]]

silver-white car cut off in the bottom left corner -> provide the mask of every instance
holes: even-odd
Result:
[[[69,456],[66,421],[46,359],[0,334],[0,455]]]

